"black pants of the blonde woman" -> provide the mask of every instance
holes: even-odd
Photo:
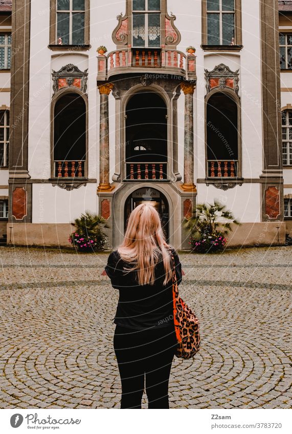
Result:
[[[133,330],[116,325],[114,349],[121,382],[121,408],[141,408],[144,380],[148,408],[169,408],[168,381],[175,353],[174,327]]]

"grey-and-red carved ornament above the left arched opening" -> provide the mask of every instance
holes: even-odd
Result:
[[[53,78],[53,96],[56,93],[66,87],[77,88],[86,95],[87,89],[87,73],[88,70],[80,71],[78,66],[69,63],[68,65],[62,66],[59,71],[54,71],[52,73]]]

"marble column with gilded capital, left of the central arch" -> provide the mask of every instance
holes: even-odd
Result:
[[[98,192],[108,192],[115,187],[109,183],[109,126],[108,126],[108,95],[113,89],[113,83],[100,86],[100,130],[99,130],[99,186]]]

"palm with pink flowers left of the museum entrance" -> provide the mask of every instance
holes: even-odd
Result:
[[[102,250],[107,236],[104,227],[109,227],[105,219],[99,214],[85,211],[74,220],[75,231],[70,235],[69,241],[80,252],[95,252]]]

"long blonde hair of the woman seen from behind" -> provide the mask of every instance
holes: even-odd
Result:
[[[139,285],[153,285],[155,281],[154,268],[163,258],[166,285],[172,279],[172,262],[162,230],[159,213],[152,205],[141,203],[134,208],[128,218],[127,228],[118,253],[125,262],[132,263],[124,270],[137,270]]]

